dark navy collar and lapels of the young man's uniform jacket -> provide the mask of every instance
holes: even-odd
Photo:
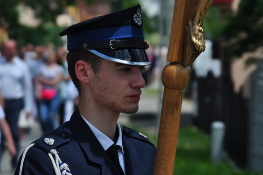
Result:
[[[77,108],[71,116],[69,124],[87,158],[89,158],[90,161],[101,165],[101,174],[118,174],[117,168],[112,168],[115,165],[112,163],[108,154],[103,149],[90,127],[80,116]],[[139,156],[135,154],[137,151],[133,147],[133,144],[129,142],[128,136],[123,133],[122,145],[124,149],[124,161],[126,168],[125,174],[147,174],[147,171],[144,169],[143,162],[141,162]]]

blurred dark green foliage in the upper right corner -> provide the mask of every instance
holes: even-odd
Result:
[[[241,0],[238,11],[227,17],[223,34],[228,43],[229,58],[240,57],[263,46],[262,7],[262,0]]]

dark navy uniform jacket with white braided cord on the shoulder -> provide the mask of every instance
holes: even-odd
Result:
[[[45,138],[53,138],[49,145]],[[22,174],[55,174],[48,153],[56,148],[62,162],[68,164],[73,175],[119,174],[110,157],[98,139],[87,126],[76,109],[69,122],[37,139],[25,156]],[[122,127],[122,144],[126,175],[153,174],[156,149],[154,145],[137,131]],[[15,174],[19,174],[19,160]]]

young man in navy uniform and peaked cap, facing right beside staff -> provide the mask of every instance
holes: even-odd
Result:
[[[142,26],[138,5],[60,33],[68,37],[78,107],[69,122],[26,148],[15,174],[153,174],[154,145],[117,122],[120,113],[138,111],[145,86],[142,71],[150,61]]]

